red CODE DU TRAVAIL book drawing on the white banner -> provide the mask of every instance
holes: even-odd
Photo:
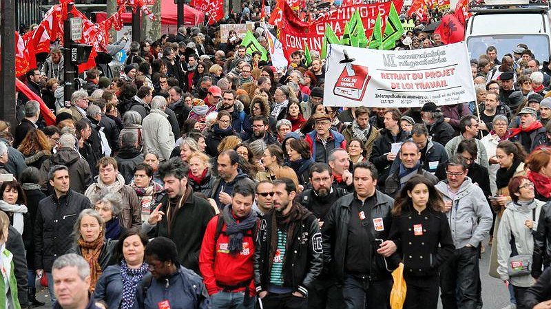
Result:
[[[371,76],[367,74],[367,67],[346,63],[342,73],[333,87],[335,96],[342,96],[351,100],[361,101],[367,89]]]

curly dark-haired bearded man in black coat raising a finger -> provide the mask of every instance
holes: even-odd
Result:
[[[188,168],[180,158],[160,163],[158,172],[167,194],[152,211],[146,227],[155,228],[154,237],[168,237],[176,243],[178,262],[199,273],[199,251],[214,209],[207,200],[194,195],[188,184]]]

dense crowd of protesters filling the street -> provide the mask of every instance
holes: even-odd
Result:
[[[551,59],[488,46],[476,101],[409,109],[325,106],[324,59],[289,60],[182,27],[65,105],[52,49],[25,83],[56,125],[23,96],[0,121],[0,302],[45,277],[55,308],[390,308],[402,262],[404,308],[474,309],[488,254],[508,308],[550,308]]]

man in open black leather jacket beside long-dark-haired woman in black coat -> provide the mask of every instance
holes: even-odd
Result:
[[[377,191],[377,169],[370,162],[354,167],[355,193],[331,207],[322,227],[324,262],[344,283],[347,309],[389,309],[397,268],[396,245],[388,239],[393,198]]]

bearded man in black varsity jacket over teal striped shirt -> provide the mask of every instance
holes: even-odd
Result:
[[[297,190],[289,178],[275,180],[274,210],[260,227],[254,277],[266,309],[306,308],[308,289],[322,273],[320,226],[313,213],[293,202]]]

